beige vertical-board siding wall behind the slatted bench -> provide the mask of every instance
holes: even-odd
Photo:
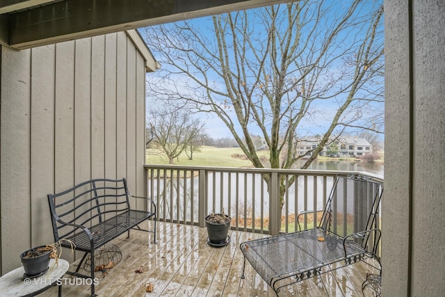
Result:
[[[19,252],[54,241],[48,193],[127,177],[145,194],[145,64],[124,32],[1,48],[2,275]]]

